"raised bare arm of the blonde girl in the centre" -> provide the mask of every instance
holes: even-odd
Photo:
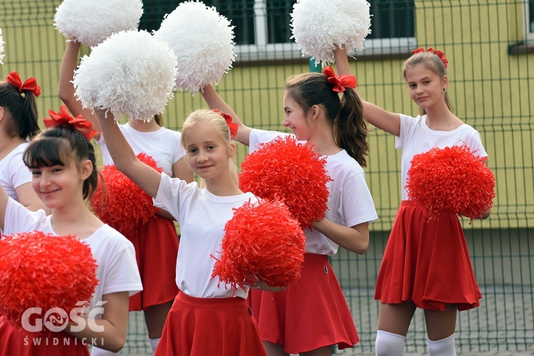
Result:
[[[128,178],[132,179],[135,184],[151,197],[156,197],[161,174],[137,159],[135,152],[124,135],[122,135],[119,125],[115,123],[115,119],[110,112],[108,112],[108,117],[105,117],[104,110],[95,110],[95,114],[100,123],[100,130],[105,135],[105,144],[108,146],[115,167],[126,174]]]

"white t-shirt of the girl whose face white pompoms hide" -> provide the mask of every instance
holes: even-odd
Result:
[[[157,131],[142,132],[135,130],[129,123],[119,127],[135,155],[144,152],[155,159],[157,167],[162,168],[165,174],[173,176],[172,165],[185,155],[181,132],[169,130],[167,127],[161,127]],[[113,164],[108,147],[105,145],[104,135],[100,135],[98,145],[102,150],[104,165]]]

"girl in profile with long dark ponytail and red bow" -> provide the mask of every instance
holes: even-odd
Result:
[[[283,126],[296,140],[307,142],[323,155],[332,178],[327,183],[325,219],[305,230],[306,253],[301,278],[287,290],[252,290],[251,308],[268,355],[310,352],[331,355],[332,346],[353,347],[360,338],[330,266],[339,246],[363,254],[369,246],[369,224],[377,219],[375,204],[365,182],[367,127],[352,76],[324,73],[295,75],[286,81]],[[238,124],[236,140],[256,150],[262,142],[284,134],[244,125],[211,85],[201,90],[211,108],[231,113]],[[291,177],[288,177],[291,179]]]

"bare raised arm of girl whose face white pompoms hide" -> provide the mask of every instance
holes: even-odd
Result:
[[[78,67],[79,52],[80,42],[67,41],[65,53],[63,53],[63,59],[61,60],[61,68],[59,70],[58,95],[72,115],[83,115],[83,118],[93,125],[93,129],[100,132],[100,126],[96,115],[93,113],[93,110],[83,108],[80,100],[76,99],[74,85],[71,83],[74,76],[74,70]],[[100,134],[95,135],[95,140],[98,140],[99,137]]]

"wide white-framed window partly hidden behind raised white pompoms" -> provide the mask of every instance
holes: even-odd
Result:
[[[164,14],[184,0],[144,0],[140,27],[159,27]],[[366,54],[396,54],[411,51],[414,38],[414,0],[368,0],[371,4],[371,33],[365,41]],[[296,0],[204,0],[215,6],[236,26],[237,61],[300,58],[290,39],[290,13]],[[358,53],[357,53],[358,55]]]

